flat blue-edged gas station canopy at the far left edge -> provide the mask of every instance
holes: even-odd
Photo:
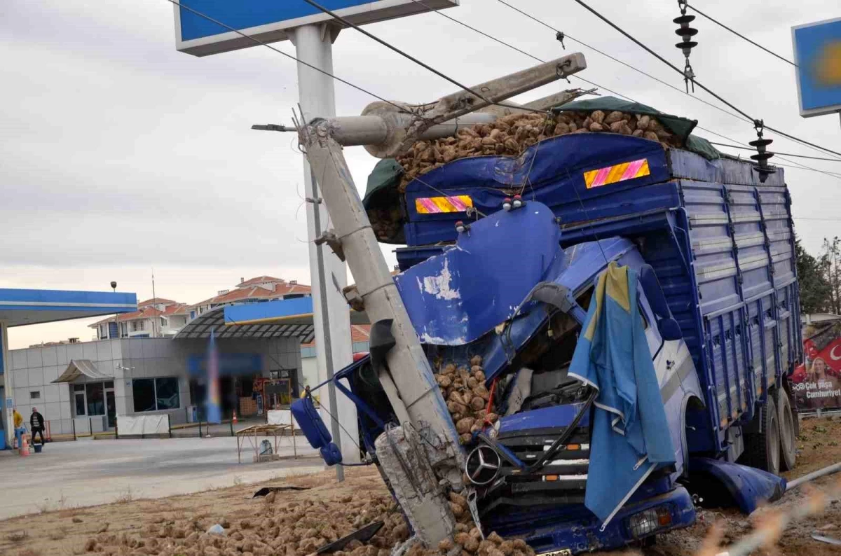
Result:
[[[0,288],[0,322],[8,327],[136,310],[134,293]]]

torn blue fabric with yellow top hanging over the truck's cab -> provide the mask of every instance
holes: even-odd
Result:
[[[606,527],[674,449],[637,302],[637,272],[611,262],[590,300],[569,375],[598,389],[584,505]]]

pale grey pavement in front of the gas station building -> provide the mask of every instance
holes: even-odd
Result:
[[[262,439],[262,438],[261,438]],[[296,438],[299,459],[254,464],[253,449],[237,463],[235,438],[78,440],[48,443],[22,458],[0,452],[0,519],[38,511],[160,498],[271,480],[324,469],[317,452]],[[291,438],[278,454],[292,456]]]

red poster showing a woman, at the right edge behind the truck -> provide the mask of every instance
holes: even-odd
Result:
[[[841,409],[841,325],[807,328],[803,342],[806,363],[791,375],[801,412]]]

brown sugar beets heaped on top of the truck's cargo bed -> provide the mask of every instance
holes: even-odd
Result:
[[[447,162],[471,156],[520,156],[524,150],[543,139],[567,134],[613,133],[632,135],[659,141],[666,147],[683,146],[679,136],[672,134],[657,118],[624,112],[562,112],[554,115],[526,113],[510,114],[494,123],[459,129],[451,137],[434,141],[418,141],[398,157],[404,174],[399,191],[405,191],[410,181]],[[515,193],[517,191],[510,191]],[[399,232],[402,215],[399,207],[368,210],[374,233],[378,239],[393,239]]]

